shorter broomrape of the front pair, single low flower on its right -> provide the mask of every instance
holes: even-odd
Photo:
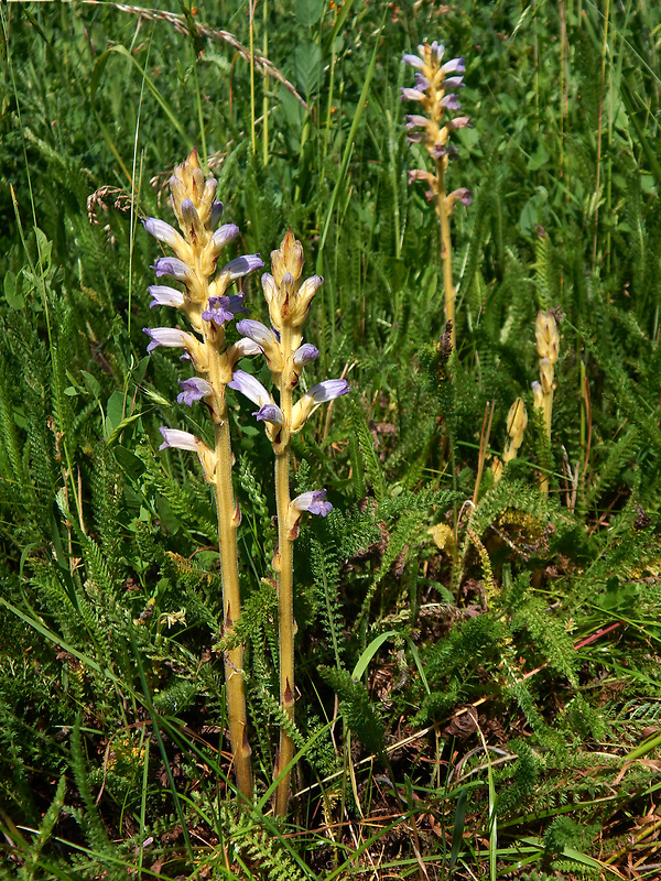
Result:
[[[271,253],[271,273],[262,275],[262,287],[269,305],[271,327],[243,319],[237,323],[246,345],[259,346],[278,387],[278,403],[250,373],[235,371],[230,388],[245,394],[258,407],[253,415],[263,421],[275,455],[275,504],[278,511],[278,551],[273,568],[278,578],[280,631],[280,705],[289,722],[294,720],[294,608],[293,541],[299,534],[303,512],[326,516],[332,510],[326,491],[304,492],[290,497],[290,460],[292,435],[300,432],[312,413],[323,403],[349,391],[344,379],[330,379],[313,385],[294,403],[294,391],[306,363],[318,358],[318,350],[303,342],[303,325],[312,300],[322,284],[319,275],[301,281],[303,246],[288,230],[279,250]],[[294,743],[286,726],[281,727],[275,776],[275,814],[286,812],[290,770]]]

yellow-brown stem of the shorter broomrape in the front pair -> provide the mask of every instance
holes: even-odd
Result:
[[[282,352],[285,363],[291,350],[291,329],[282,327]],[[290,457],[292,424],[292,390],[289,388],[289,371],[280,378],[280,409],[283,414],[282,434],[275,449],[275,504],[278,510],[278,628],[280,633],[280,706],[290,722],[294,721],[294,590],[293,590],[293,542],[290,537],[288,515],[290,508]],[[280,728],[280,750],[275,773],[291,762],[294,741]],[[282,777],[275,791],[275,816],[283,817],[290,794],[290,772]]]

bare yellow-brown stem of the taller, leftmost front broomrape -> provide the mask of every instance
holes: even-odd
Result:
[[[220,378],[218,347],[207,339],[209,351],[209,380],[217,390],[214,410],[214,435],[216,439],[216,507],[218,511],[218,544],[220,550],[220,575],[223,579],[223,616],[225,637],[231,637],[236,622],[241,617],[237,529],[240,516],[236,508],[231,485],[231,446],[229,422],[225,402],[225,384]],[[220,391],[221,390],[221,391]],[[237,645],[225,653],[225,682],[229,716],[229,739],[239,793],[248,803],[252,802],[252,769],[248,744],[248,718],[246,714],[246,686],[243,681],[243,646]]]

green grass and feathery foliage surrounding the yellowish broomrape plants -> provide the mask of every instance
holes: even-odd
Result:
[[[0,9],[1,871],[658,879],[659,6],[252,11]],[[399,94],[425,36],[466,58],[473,118],[449,172],[474,192],[449,362]],[[238,252],[267,258],[290,225],[303,240],[325,276],[318,378],[354,390],[295,449],[335,510],[296,543],[284,825],[269,446],[236,400],[259,790],[240,814],[213,497],[187,454],[156,453],[161,424],[207,429],[141,330],[158,246],[139,218],[171,220],[194,145]],[[563,316],[551,445],[531,418],[492,486],[511,402],[532,410],[540,308]]]

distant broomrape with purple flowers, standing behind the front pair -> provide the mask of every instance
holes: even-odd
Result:
[[[446,172],[449,160],[457,149],[451,134],[468,126],[468,117],[449,117],[448,111],[460,108],[455,89],[463,87],[466,67],[464,58],[443,62],[445,48],[426,40],[418,46],[418,55],[404,55],[402,62],[415,68],[415,86],[402,88],[402,100],[415,101],[416,111],[407,117],[409,141],[423,144],[433,163],[434,172],[418,168],[409,172],[409,183],[424,181],[429,185],[427,196],[433,200],[441,224],[441,254],[445,287],[445,320],[452,322],[452,346],[455,347],[455,289],[452,279],[452,239],[449,218],[456,202],[470,205],[472,194],[465,187],[446,191]]]

